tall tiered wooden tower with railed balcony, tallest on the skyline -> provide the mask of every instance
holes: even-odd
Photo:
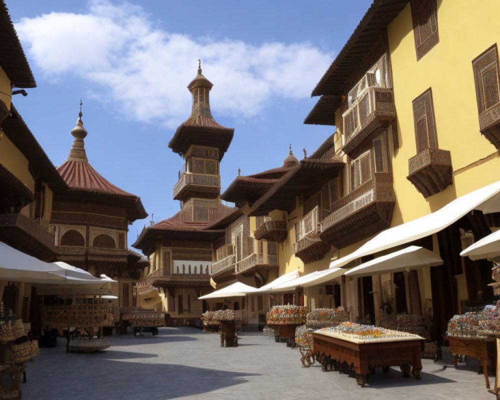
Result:
[[[232,140],[234,129],[213,119],[208,101],[212,83],[198,73],[187,88],[192,95],[191,115],[168,143],[184,159],[173,198],[181,201],[180,222],[208,223],[218,216],[220,204],[219,162]]]

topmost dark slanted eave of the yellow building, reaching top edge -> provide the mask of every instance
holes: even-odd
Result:
[[[345,79],[407,3],[408,0],[374,0],[311,95],[345,94],[340,90]]]

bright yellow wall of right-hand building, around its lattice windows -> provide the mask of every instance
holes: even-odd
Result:
[[[498,180],[500,160],[494,157],[458,171],[494,153],[479,132],[472,59],[500,42],[500,2],[437,0],[437,43],[416,60],[409,4],[388,25],[399,149],[392,153],[397,205],[391,225],[435,211],[453,198]],[[408,159],[416,154],[412,100],[432,88],[439,148],[451,151],[453,185],[424,199],[406,179]]]

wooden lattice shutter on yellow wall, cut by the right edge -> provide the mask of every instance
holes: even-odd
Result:
[[[472,61],[475,92],[479,113],[500,102],[498,79],[498,50],[493,44]]]

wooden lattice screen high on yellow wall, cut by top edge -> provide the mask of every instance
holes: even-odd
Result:
[[[419,60],[439,42],[437,6],[436,0],[412,0],[410,4],[416,59]]]

